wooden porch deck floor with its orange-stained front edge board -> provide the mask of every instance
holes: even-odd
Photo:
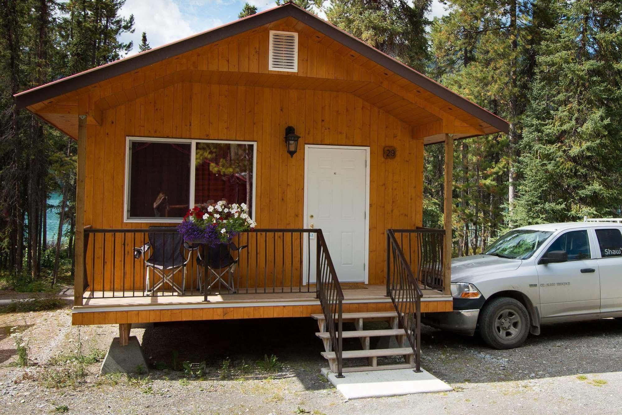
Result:
[[[422,312],[445,312],[453,307],[452,297],[437,290],[423,290]],[[384,285],[364,285],[343,290],[343,312],[392,311]],[[96,293],[85,298],[82,306],[73,307],[73,324],[116,324],[215,320],[226,318],[308,317],[321,313],[315,292],[233,293],[208,295],[154,295],[141,292]]]

